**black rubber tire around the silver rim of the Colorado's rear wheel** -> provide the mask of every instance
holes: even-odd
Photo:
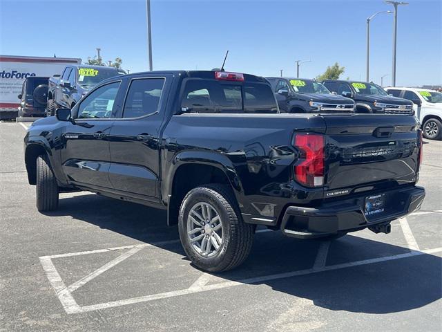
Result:
[[[209,203],[215,208],[222,223],[222,243],[213,257],[203,257],[190,243],[187,219],[191,208],[197,203]],[[187,257],[201,270],[222,272],[242,264],[253,244],[254,225],[244,223],[238,203],[226,185],[202,185],[184,197],[178,220],[180,239]]]

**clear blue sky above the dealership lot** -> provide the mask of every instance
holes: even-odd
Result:
[[[442,1],[399,6],[396,86],[442,84]],[[151,0],[154,70],[211,70],[316,77],[345,66],[365,80],[366,19],[392,10],[382,0]],[[391,84],[393,15],[370,24],[370,80]],[[148,70],[146,1],[0,0],[0,54],[80,57],[101,48],[131,73]]]

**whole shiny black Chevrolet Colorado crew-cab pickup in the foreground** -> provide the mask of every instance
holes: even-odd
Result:
[[[425,196],[414,117],[279,113],[268,82],[240,73],[113,77],[24,143],[39,211],[73,190],[166,209],[209,271],[241,264],[257,224],[300,239],[387,233]]]

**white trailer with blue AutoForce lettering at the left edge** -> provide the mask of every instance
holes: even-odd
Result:
[[[26,77],[49,77],[61,73],[67,64],[79,63],[81,59],[68,57],[0,55],[0,119],[17,117],[17,110],[20,107],[17,95],[21,93]]]

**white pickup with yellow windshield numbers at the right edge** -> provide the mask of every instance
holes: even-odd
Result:
[[[398,87],[386,88],[385,91],[413,103],[414,114],[422,124],[425,138],[442,138],[442,93],[428,89]]]

